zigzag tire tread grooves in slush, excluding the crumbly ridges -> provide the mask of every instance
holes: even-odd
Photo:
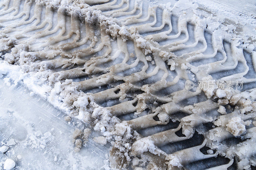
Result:
[[[139,33],[163,54],[147,54],[138,47],[138,41],[113,38],[102,23],[91,24],[61,8],[30,0],[3,0],[1,38],[8,35],[17,39],[18,44],[2,50],[2,59],[17,64],[17,58],[8,54],[14,52],[13,47],[29,44],[27,51],[37,56],[30,65],[38,70],[50,69],[50,82],[72,79],[79,90],[91,93],[100,106],[140,134],[134,148],[152,141],[163,153],[146,154],[162,169],[172,166],[165,162],[173,156],[180,159],[180,165],[176,166],[185,169],[241,167],[243,156],[225,157],[221,153],[232,147],[239,151],[246,150],[249,144],[255,145],[255,126],[246,126],[246,133],[254,135],[234,137],[222,126],[214,125],[213,118],[228,118],[235,108],[222,103],[227,114],[221,115],[217,101],[207,98],[202,90],[186,90],[184,86],[186,80],[198,83],[210,75],[216,81],[243,81],[243,90],[253,92],[255,51],[238,49],[236,42],[220,39],[218,32],[209,32],[165,6],[152,7],[139,0],[86,0],[85,3]],[[165,52],[172,59],[163,59]],[[26,61],[18,64],[22,62]],[[189,110],[189,106],[197,112]],[[254,117],[254,113],[249,113],[242,120],[253,121]],[[209,136],[219,131],[222,133],[218,140],[211,140]],[[225,151],[219,151],[218,147]],[[207,152],[210,149],[214,152]],[[136,149],[133,153],[140,155]],[[248,165],[255,168],[255,150],[246,154],[250,157]]]

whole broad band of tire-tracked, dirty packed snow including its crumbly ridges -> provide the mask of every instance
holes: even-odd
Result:
[[[253,42],[170,5],[2,1],[0,73],[101,131],[112,168],[255,166]]]

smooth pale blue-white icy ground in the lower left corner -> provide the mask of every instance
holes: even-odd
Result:
[[[1,168],[9,158],[16,162],[18,169],[102,169],[107,146],[100,146],[89,138],[87,147],[75,153],[72,133],[75,126],[84,125],[75,119],[69,124],[63,116],[63,112],[48,102],[31,96],[23,85],[11,89],[1,79],[1,146],[8,146],[8,141],[13,139],[16,143],[8,146],[7,152],[0,153]]]

